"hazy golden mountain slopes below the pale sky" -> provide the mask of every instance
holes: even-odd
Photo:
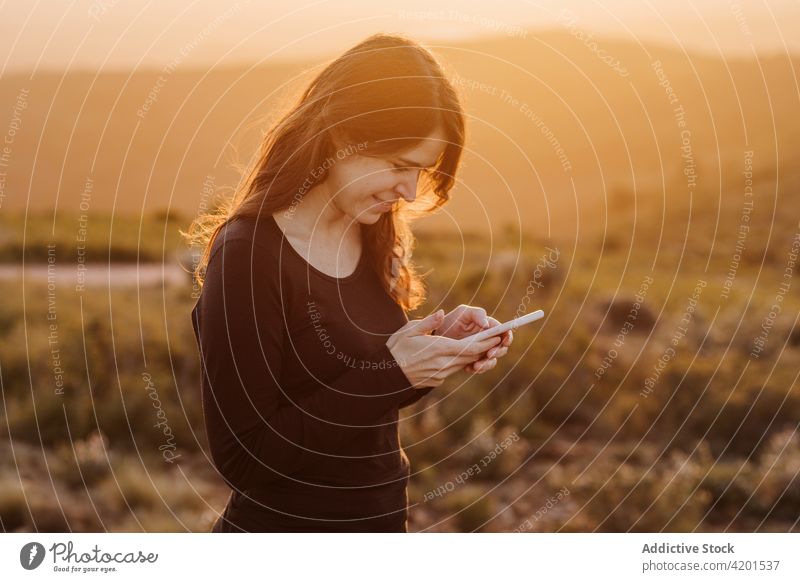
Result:
[[[605,228],[609,208],[633,219],[689,193],[740,205],[746,151],[767,192],[798,166],[796,58],[565,31],[439,54],[462,87],[468,151],[447,212],[422,228],[519,223],[574,239]],[[246,162],[263,124],[245,126],[279,114],[319,66],[4,76],[0,209],[193,215],[210,188],[235,186],[235,149]]]

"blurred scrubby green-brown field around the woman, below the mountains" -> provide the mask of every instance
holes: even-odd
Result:
[[[23,240],[26,261],[46,258],[53,240],[59,261],[74,261],[71,219],[55,235],[52,217],[26,229],[3,220],[5,261],[20,258]],[[468,303],[501,320],[521,307],[547,318],[518,330],[494,370],[454,376],[405,411],[410,528],[796,531],[794,288],[752,355],[795,228],[776,224],[753,231],[755,251],[725,299],[734,240],[726,228],[716,251],[693,235],[685,261],[676,259],[686,247],[677,231],[662,238],[659,258],[644,243],[601,235],[579,244],[512,228],[491,244],[420,236],[415,259],[430,270],[429,300],[413,316]],[[93,217],[90,256],[174,261],[178,226],[185,218]],[[190,291],[188,280],[81,293],[0,281],[3,530],[208,530],[227,489],[204,452]],[[159,418],[168,437],[154,427]]]

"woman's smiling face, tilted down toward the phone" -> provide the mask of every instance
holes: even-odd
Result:
[[[337,161],[326,180],[331,204],[362,224],[374,224],[397,201],[413,202],[420,172],[433,167],[447,145],[437,129],[412,148],[382,157],[356,153]]]

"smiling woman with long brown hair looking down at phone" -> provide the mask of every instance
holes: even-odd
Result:
[[[319,73],[242,191],[192,225],[203,410],[232,489],[213,531],[406,531],[398,410],[513,339],[470,341],[498,324],[480,308],[406,317],[424,299],[410,203],[418,186],[428,211],[447,201],[463,143],[433,55],[376,35]]]

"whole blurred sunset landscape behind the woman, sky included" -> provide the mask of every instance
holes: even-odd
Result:
[[[0,8],[0,528],[208,531],[179,229],[375,32],[461,92],[429,300],[544,309],[410,410],[411,531],[800,529],[800,5]]]

